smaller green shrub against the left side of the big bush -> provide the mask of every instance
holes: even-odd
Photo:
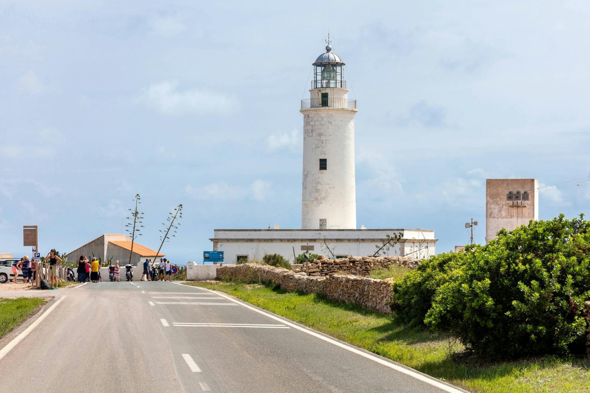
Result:
[[[464,260],[464,253],[438,254],[421,261],[402,280],[395,281],[392,308],[398,322],[422,325],[437,288],[447,282],[450,271]]]

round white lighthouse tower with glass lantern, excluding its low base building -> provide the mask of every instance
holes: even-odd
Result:
[[[345,63],[332,53],[314,61],[303,113],[302,229],[356,229],[355,114],[343,78]]]

